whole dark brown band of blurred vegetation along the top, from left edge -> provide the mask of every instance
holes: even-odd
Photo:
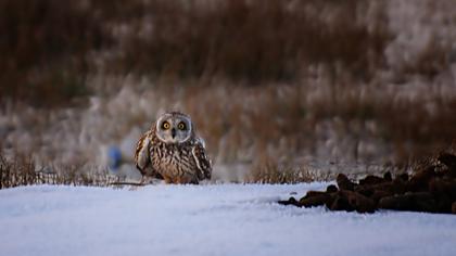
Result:
[[[369,79],[391,36],[384,26],[353,22],[367,7],[360,0],[2,1],[0,92],[61,106],[90,94],[87,77],[97,73],[258,85],[296,80],[322,65]]]

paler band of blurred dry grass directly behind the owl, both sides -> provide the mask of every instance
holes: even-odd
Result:
[[[456,138],[456,98],[452,94],[426,90],[410,98],[395,87],[377,84],[243,87],[210,82],[185,88],[165,84],[147,93],[142,89],[123,92],[80,114],[31,111],[22,114],[23,124],[12,126],[17,127],[12,129],[15,137],[5,142],[41,149],[35,151],[41,163],[102,164],[100,145],[119,145],[134,130],[137,136],[128,139],[136,140],[156,114],[176,108],[192,116],[216,164],[241,162],[254,166],[253,171],[262,169],[258,159],[275,158],[281,167],[299,167],[306,166],[308,156],[325,163],[407,166]],[[30,145],[31,141],[36,144]],[[264,171],[269,171],[268,162],[264,164]]]

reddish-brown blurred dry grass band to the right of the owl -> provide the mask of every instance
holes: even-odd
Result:
[[[228,163],[318,156],[330,148],[319,157],[404,165],[456,138],[454,95],[427,91],[410,99],[376,84],[197,87],[182,101],[212,152]]]

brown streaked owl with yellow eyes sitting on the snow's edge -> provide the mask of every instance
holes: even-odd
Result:
[[[190,116],[170,112],[159,117],[138,141],[136,167],[143,178],[166,183],[194,183],[211,179],[212,166],[204,141],[197,137]]]

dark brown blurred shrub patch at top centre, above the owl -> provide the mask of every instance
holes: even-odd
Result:
[[[311,64],[337,64],[369,78],[390,40],[383,27],[356,22],[364,1],[199,2],[145,4],[148,22],[128,34],[114,63],[127,72],[251,81],[294,80]]]

